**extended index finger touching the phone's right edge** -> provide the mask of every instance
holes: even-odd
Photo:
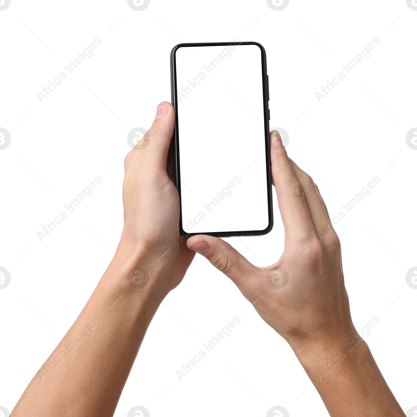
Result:
[[[286,239],[309,239],[316,236],[303,188],[282,145],[281,135],[272,131],[270,139],[272,177]]]

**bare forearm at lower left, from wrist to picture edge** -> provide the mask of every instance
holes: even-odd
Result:
[[[13,416],[26,416],[29,410],[44,417],[113,415],[161,302],[154,283],[142,290],[128,284],[129,272],[143,264],[151,269],[146,254],[124,261],[115,256],[73,326],[25,389]],[[161,269],[153,265],[154,281]]]

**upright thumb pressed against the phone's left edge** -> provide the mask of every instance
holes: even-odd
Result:
[[[175,111],[171,103],[163,101],[156,109],[151,128],[135,146],[138,149],[135,170],[145,167],[166,171],[168,149],[175,126]]]

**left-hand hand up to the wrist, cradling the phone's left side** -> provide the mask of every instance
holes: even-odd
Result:
[[[124,228],[116,253],[121,259],[140,259],[146,253],[137,266],[152,268],[150,285],[156,284],[153,277],[162,280],[163,296],[181,282],[195,255],[179,235],[180,204],[170,146],[174,126],[174,108],[164,101],[148,133],[126,155]]]

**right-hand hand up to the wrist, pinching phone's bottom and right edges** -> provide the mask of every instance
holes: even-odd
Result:
[[[214,236],[192,236],[187,246],[226,274],[294,350],[302,353],[307,344],[311,349],[312,344],[345,343],[357,332],[344,287],[339,238],[316,184],[288,158],[276,131],[271,132],[271,144],[272,176],[285,228],[279,260],[265,268],[254,266]]]

